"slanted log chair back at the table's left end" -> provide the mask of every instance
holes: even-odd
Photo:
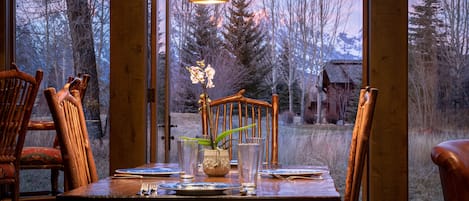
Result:
[[[64,163],[66,184],[72,190],[98,180],[91,150],[85,115],[78,90],[70,91],[70,83],[56,93],[44,90],[54,120]]]

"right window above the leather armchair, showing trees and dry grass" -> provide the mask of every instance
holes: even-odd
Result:
[[[443,200],[436,144],[467,138],[467,2],[409,1],[409,195]],[[459,8],[459,9],[458,9]],[[425,192],[425,193],[422,193]]]

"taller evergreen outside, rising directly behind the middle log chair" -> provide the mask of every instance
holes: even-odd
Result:
[[[224,25],[226,32],[223,35],[225,48],[236,58],[236,64],[247,70],[242,88],[246,89],[247,96],[259,98],[258,96],[263,93],[260,86],[269,73],[269,68],[264,62],[267,43],[264,41],[265,35],[259,24],[254,21],[254,14],[248,9],[251,2],[251,0],[231,1],[232,6],[228,8],[228,22]]]

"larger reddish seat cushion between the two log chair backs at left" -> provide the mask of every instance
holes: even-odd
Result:
[[[52,147],[24,147],[21,152],[21,165],[62,164],[60,149]]]

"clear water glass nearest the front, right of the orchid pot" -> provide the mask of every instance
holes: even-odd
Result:
[[[259,165],[259,143],[238,144],[238,173],[241,191],[248,195],[256,194],[257,166]]]

